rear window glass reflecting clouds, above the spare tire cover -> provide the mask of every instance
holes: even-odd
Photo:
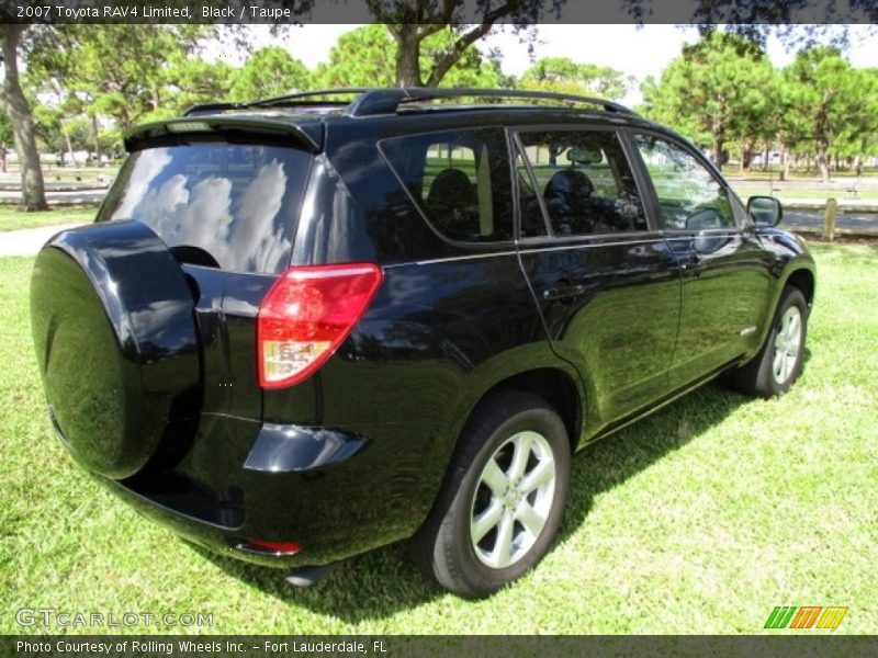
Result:
[[[189,262],[275,274],[290,261],[309,163],[303,151],[261,145],[135,151],[98,220],[142,222]]]

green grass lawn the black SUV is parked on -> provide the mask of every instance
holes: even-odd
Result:
[[[295,590],[139,518],[53,436],[32,260],[0,259],[0,633],[57,632],[15,625],[46,606],[213,615],[177,629],[192,633],[751,634],[776,605],[849,606],[834,633],[878,633],[878,250],[813,251],[798,385],[768,401],[711,385],[585,450],[552,552],[476,602],[425,582],[398,545]]]

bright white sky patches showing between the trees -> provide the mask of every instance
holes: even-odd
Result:
[[[328,59],[329,49],[338,37],[357,25],[304,25],[291,30],[282,39],[274,39],[264,25],[254,25],[255,42],[259,45],[279,44],[313,69]],[[671,60],[679,55],[684,43],[698,39],[695,27],[676,25],[577,25],[545,24],[539,26],[534,55],[540,57],[570,57],[574,61],[610,66],[633,76],[635,83],[622,102],[635,105],[641,101],[638,87],[646,76],[660,76]],[[504,73],[520,76],[532,63],[527,46],[519,43],[510,30],[489,35],[477,47],[498,47],[503,53]],[[775,66],[789,64],[795,53],[788,52],[777,39],[768,43],[768,56]],[[851,48],[847,53],[856,67],[878,68],[878,36],[867,33],[863,25],[851,27]],[[235,63],[239,64],[239,63]]]

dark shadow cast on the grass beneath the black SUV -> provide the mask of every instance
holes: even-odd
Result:
[[[595,497],[696,440],[750,399],[722,384],[712,384],[581,451],[573,462],[565,520],[559,538],[569,537],[587,522]],[[194,545],[192,548],[229,576],[271,597],[346,623],[386,619],[444,595],[443,590],[426,580],[407,559],[404,544],[344,563],[311,589],[288,585],[282,571],[251,566]]]

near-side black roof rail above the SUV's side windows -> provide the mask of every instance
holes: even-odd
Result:
[[[453,98],[485,98],[485,99],[532,99],[551,100],[565,103],[577,103],[586,105],[598,105],[607,112],[618,112],[620,114],[637,114],[619,103],[606,99],[592,97],[581,97],[567,93],[554,93],[548,91],[529,91],[520,89],[436,89],[428,87],[401,87],[395,89],[372,89],[364,91],[350,105],[347,113],[350,116],[372,116],[375,114],[393,114],[399,110],[404,103],[418,101],[430,101],[434,99]]]

